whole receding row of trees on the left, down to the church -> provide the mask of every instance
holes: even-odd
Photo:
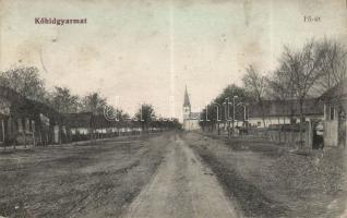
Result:
[[[0,72],[0,86],[9,87],[25,98],[44,102],[60,113],[92,112],[96,116],[104,114],[106,119],[111,118],[115,121],[137,120],[142,122],[144,129],[164,120],[158,118],[154,107],[148,104],[142,105],[134,118],[131,118],[129,113],[109,105],[107,98],[98,92],[79,96],[72,94],[68,87],[56,86],[52,90],[48,90],[35,66],[13,68]],[[170,129],[179,128],[177,119],[165,119],[165,121],[164,123]]]

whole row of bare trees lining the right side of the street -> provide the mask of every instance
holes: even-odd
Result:
[[[278,59],[278,66],[271,72],[260,72],[249,65],[242,77],[243,86],[230,85],[202,111],[210,122],[216,123],[216,105],[238,96],[246,102],[256,102],[265,126],[264,100],[276,99],[287,105],[295,99],[299,105],[300,120],[304,120],[303,104],[309,97],[318,97],[346,78],[347,50],[335,39],[310,39],[300,49],[285,46]],[[219,107],[223,108],[223,107]],[[220,109],[219,109],[220,110]],[[238,111],[236,111],[238,112]],[[224,114],[219,113],[219,120]],[[232,117],[232,111],[231,111]],[[225,119],[226,120],[226,119]],[[303,122],[300,122],[303,123]],[[201,122],[202,125],[206,122]],[[301,125],[302,128],[302,125]],[[300,131],[301,132],[301,131]]]

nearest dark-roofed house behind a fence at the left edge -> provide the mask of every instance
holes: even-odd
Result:
[[[62,117],[46,106],[0,86],[0,143],[47,145],[62,142]]]

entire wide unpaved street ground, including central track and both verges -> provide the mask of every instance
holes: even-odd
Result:
[[[343,158],[194,132],[8,148],[0,153],[0,216],[340,217]]]

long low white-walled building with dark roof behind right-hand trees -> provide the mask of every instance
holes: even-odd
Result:
[[[322,101],[316,98],[306,99],[302,109],[307,121],[324,119],[324,106]],[[263,112],[259,104],[251,104],[248,107],[248,123],[251,126],[267,128],[271,124],[290,124],[299,122],[300,110],[299,102],[296,99],[287,100],[286,102],[280,100],[264,100]]]

